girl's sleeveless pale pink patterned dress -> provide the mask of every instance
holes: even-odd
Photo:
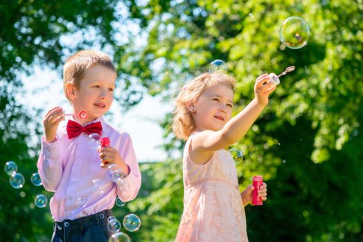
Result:
[[[215,151],[209,162],[197,165],[189,156],[193,134],[184,148],[184,212],[175,241],[248,241],[245,209],[231,153]]]

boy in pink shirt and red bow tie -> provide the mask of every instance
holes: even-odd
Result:
[[[46,113],[37,161],[44,188],[55,192],[50,202],[52,241],[108,241],[107,217],[116,195],[131,201],[141,186],[130,136],[103,119],[113,101],[116,70],[104,53],[81,50],[64,64],[63,81],[74,115],[67,125],[60,125],[64,120],[60,106]],[[81,111],[87,113],[85,118],[79,117]],[[89,133],[109,137],[111,146],[98,153],[91,148]],[[126,176],[122,184],[112,182],[108,165]]]

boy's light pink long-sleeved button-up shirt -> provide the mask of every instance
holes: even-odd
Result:
[[[127,133],[111,127],[98,118],[103,127],[103,137],[109,137],[111,146],[118,150],[121,158],[130,167],[130,174],[123,183],[112,181],[112,172],[100,167],[97,142],[87,133],[69,140],[67,123],[57,129],[57,140],[46,143],[42,139],[37,168],[43,186],[55,192],[51,198],[51,213],[55,221],[76,219],[114,207],[116,196],[122,201],[131,201],[139,192],[141,174],[132,140]]]

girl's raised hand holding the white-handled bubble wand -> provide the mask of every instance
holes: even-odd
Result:
[[[269,80],[268,74],[260,75],[255,82],[255,99],[259,104],[266,106],[269,103],[269,94],[275,91],[275,89],[276,86]]]

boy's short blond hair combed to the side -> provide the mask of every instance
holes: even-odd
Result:
[[[80,50],[74,55],[68,57],[63,67],[63,89],[67,99],[67,83],[73,84],[76,89],[80,88],[80,80],[85,75],[87,68],[101,65],[110,68],[116,72],[111,58],[105,53],[98,50]]]

